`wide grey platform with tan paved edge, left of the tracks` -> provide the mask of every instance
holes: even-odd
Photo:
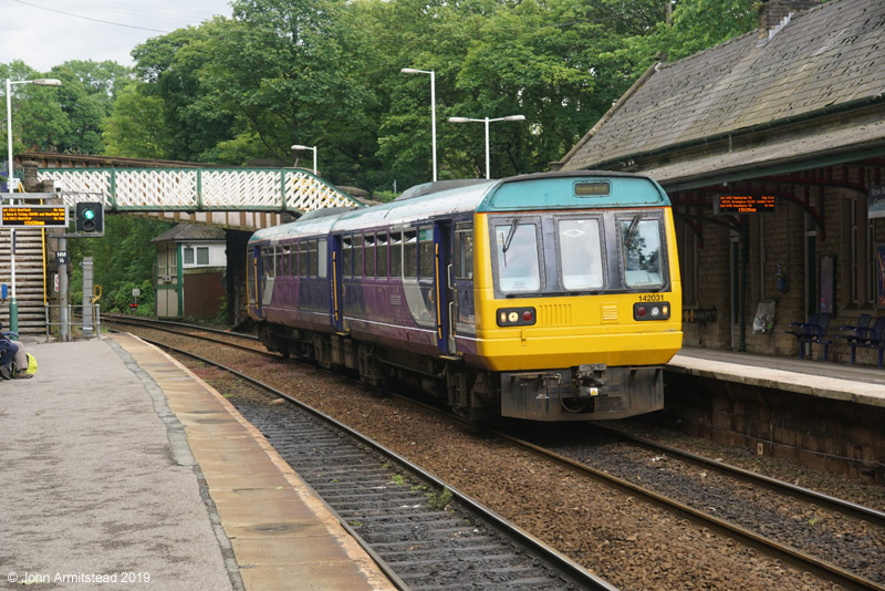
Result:
[[[128,334],[0,383],[0,588],[392,590],[215,388]]]

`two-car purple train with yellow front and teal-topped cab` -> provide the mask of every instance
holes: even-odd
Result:
[[[681,346],[673,211],[652,178],[538,173],[412,187],[248,242],[261,342],[472,421],[664,407]]]

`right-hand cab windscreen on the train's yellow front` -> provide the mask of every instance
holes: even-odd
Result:
[[[660,222],[637,214],[622,219],[620,226],[625,284],[638,289],[662,287]]]

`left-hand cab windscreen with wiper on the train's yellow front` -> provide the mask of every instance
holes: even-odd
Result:
[[[494,227],[498,258],[498,288],[503,292],[539,291],[541,261],[538,253],[538,228],[513,220]]]

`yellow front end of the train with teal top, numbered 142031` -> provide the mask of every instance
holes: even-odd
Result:
[[[681,283],[657,184],[611,173],[502,184],[473,226],[475,318],[460,313],[456,335],[475,323],[464,349],[494,372],[502,416],[663,408],[663,364],[681,346]]]

